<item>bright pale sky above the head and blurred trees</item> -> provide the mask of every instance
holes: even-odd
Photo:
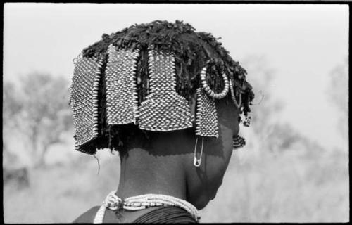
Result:
[[[4,81],[34,71],[70,79],[73,58],[101,34],[153,20],[183,20],[222,37],[239,62],[265,56],[275,69],[272,91],[286,103],[280,120],[323,146],[346,146],[325,89],[329,71],[348,57],[347,5],[7,3]]]

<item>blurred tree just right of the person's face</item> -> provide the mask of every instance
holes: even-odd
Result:
[[[256,136],[256,148],[260,153],[279,152],[288,149],[291,144],[301,141],[303,137],[287,123],[277,122],[284,103],[274,96],[273,79],[275,70],[270,68],[263,56],[249,56],[241,61],[249,73],[247,79],[253,86],[256,98],[251,105],[251,127]],[[251,143],[249,143],[251,144]]]

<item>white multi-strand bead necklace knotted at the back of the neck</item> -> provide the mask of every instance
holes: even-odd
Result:
[[[198,222],[201,217],[199,216],[199,212],[191,203],[186,200],[182,200],[180,198],[175,198],[170,195],[156,195],[156,194],[146,194],[146,195],[137,195],[130,198],[125,198],[122,200],[115,195],[116,191],[111,191],[108,194],[106,199],[103,201],[103,205],[99,208],[98,212],[96,212],[96,216],[94,217],[94,224],[103,223],[103,217],[106,212],[106,209],[110,210],[118,210],[122,207],[125,210],[144,210],[148,207],[155,206],[176,206],[180,207],[189,214]]]

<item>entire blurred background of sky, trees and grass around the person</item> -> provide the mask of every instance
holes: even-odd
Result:
[[[5,222],[71,222],[117,188],[118,154],[100,150],[99,167],[74,150],[73,58],[103,33],[153,20],[222,37],[256,94],[240,131],[247,145],[201,221],[349,221],[348,13],[343,4],[5,4]]]

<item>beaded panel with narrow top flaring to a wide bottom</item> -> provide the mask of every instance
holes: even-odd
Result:
[[[139,108],[139,128],[174,131],[192,127],[194,120],[186,98],[175,90],[175,58],[172,53],[149,50],[150,94]]]

